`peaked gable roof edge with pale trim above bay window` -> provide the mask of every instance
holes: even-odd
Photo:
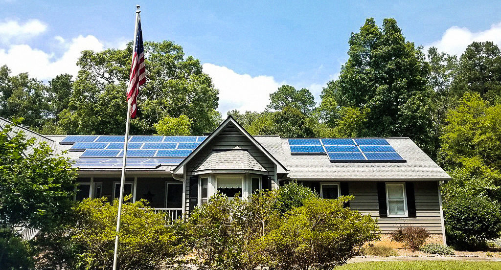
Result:
[[[177,167],[172,170],[172,173],[179,173],[179,170],[188,163],[207,143],[209,143],[212,139],[214,139],[223,129],[229,124],[233,124],[238,131],[240,131],[243,135],[245,135],[256,147],[263,152],[271,161],[275,163],[277,166],[278,173],[287,173],[287,168],[276,158],[274,157],[268,150],[263,147],[252,135],[250,135],[236,120],[231,117],[231,115],[226,118],[210,135],[196,147],[193,152],[191,152]]]

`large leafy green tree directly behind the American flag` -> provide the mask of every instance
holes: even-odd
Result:
[[[185,58],[181,46],[173,42],[145,42],[144,46],[147,80],[139,91],[139,110],[131,122],[131,133],[153,134],[153,124],[167,115],[193,119],[193,134],[212,131],[220,122],[215,111],[218,91],[202,72],[200,61],[192,56]],[[61,119],[69,134],[123,133],[126,111],[122,108],[131,52],[132,43],[125,50],[82,52],[77,63],[81,71],[69,109],[63,111]],[[116,106],[109,108],[110,103]]]

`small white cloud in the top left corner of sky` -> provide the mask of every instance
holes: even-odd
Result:
[[[24,24],[9,20],[0,23],[0,42],[19,43],[36,37],[47,30],[47,25],[39,20],[29,20]]]

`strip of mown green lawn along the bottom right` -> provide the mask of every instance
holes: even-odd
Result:
[[[501,261],[370,261],[354,262],[336,270],[501,270]]]

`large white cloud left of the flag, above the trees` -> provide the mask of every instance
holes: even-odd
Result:
[[[66,42],[62,37],[55,37],[64,48],[61,57],[34,49],[26,44],[11,45],[9,49],[0,49],[0,66],[7,65],[13,74],[28,72],[39,80],[50,80],[61,73],[76,75],[79,71],[76,63],[83,50],[102,51],[101,43],[94,36],[78,36]]]

